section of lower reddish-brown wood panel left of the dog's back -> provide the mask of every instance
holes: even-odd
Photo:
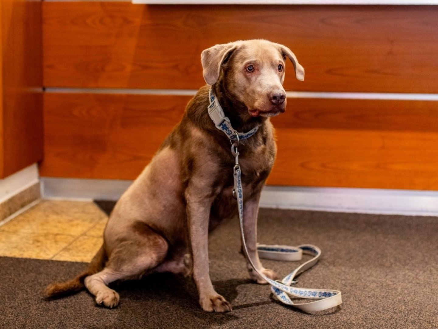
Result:
[[[45,93],[40,175],[134,179],[190,98]]]

